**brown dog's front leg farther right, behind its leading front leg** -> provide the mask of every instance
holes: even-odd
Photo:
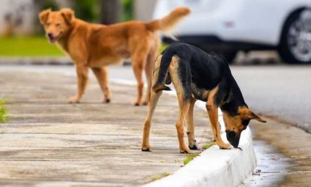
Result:
[[[111,99],[111,92],[109,90],[109,83],[108,83],[108,69],[106,67],[102,68],[92,68],[99,85],[101,86],[104,99],[103,102],[110,102]]]

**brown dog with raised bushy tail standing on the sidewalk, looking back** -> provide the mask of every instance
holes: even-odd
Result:
[[[168,16],[151,22],[128,21],[109,26],[87,23],[74,17],[70,9],[52,12],[44,10],[39,19],[44,25],[51,43],[57,44],[72,58],[78,77],[77,94],[69,102],[79,102],[87,83],[88,68],[91,68],[104,92],[104,101],[109,102],[107,65],[117,64],[132,58],[132,66],[138,82],[140,105],[143,92],[142,71],[145,69],[148,89],[144,104],[150,97],[152,69],[160,45],[157,31],[169,31],[183,17],[190,14],[188,8],[176,8]]]

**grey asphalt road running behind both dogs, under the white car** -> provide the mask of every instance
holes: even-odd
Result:
[[[71,66],[0,66],[20,71],[61,72],[75,76]],[[296,123],[311,132],[311,66],[231,66],[249,108]],[[110,79],[135,80],[131,67],[109,67]]]

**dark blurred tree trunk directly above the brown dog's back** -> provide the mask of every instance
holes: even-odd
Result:
[[[120,0],[101,0],[101,23],[105,25],[117,23],[121,17]]]

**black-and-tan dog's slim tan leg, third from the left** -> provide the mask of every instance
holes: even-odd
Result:
[[[193,108],[194,108],[195,102],[196,102],[196,100],[191,98],[189,111],[188,111],[187,116],[186,116],[188,143],[189,143],[189,148],[191,150],[200,149],[200,147],[196,143],[196,140],[194,137]]]

